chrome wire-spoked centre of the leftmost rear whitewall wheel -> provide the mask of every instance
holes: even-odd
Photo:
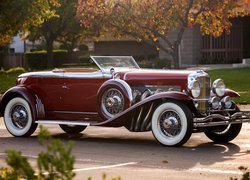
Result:
[[[28,123],[28,113],[22,105],[14,106],[10,111],[10,117],[17,128],[23,129]]]

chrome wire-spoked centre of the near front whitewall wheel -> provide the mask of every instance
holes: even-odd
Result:
[[[164,135],[174,137],[181,132],[181,120],[177,112],[164,111],[158,119],[160,129]]]

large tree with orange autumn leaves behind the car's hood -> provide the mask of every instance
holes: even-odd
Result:
[[[112,32],[151,40],[172,56],[179,68],[179,46],[185,30],[199,25],[202,34],[230,32],[230,18],[246,15],[239,0],[78,0],[81,24],[96,35]],[[176,31],[170,40],[168,33]],[[164,42],[161,43],[161,41]]]

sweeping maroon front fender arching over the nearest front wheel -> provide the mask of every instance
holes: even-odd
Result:
[[[151,129],[151,119],[155,109],[167,101],[178,101],[185,104],[191,112],[197,110],[192,99],[181,92],[162,92],[154,94],[115,115],[114,117],[91,124],[92,126],[121,127],[125,126],[130,131],[142,132]]]

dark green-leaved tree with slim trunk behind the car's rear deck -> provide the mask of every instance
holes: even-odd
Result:
[[[40,27],[30,28],[30,39],[42,38],[47,46],[48,67],[53,67],[53,43],[58,40],[71,52],[80,36],[79,21],[76,19],[77,0],[58,0],[59,7],[54,7],[58,15],[44,21]]]

